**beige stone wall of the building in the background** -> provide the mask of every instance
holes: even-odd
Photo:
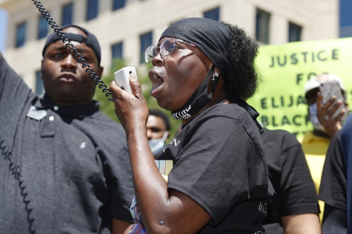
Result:
[[[61,22],[61,7],[71,0],[42,0],[56,22]],[[187,17],[202,17],[203,12],[220,7],[220,19],[243,27],[255,34],[256,8],[271,13],[270,44],[288,41],[288,23],[303,27],[302,40],[338,37],[338,0],[127,0],[124,8],[111,11],[112,0],[99,1],[98,17],[85,21],[86,0],[74,0],[74,23],[87,27],[97,37],[102,49],[102,65],[111,64],[111,45],[124,41],[123,53],[131,66],[139,65],[139,35],[153,31],[156,44],[163,30],[172,22]],[[0,8],[7,10],[8,35],[6,51],[8,63],[34,89],[35,71],[40,69],[45,39],[37,40],[37,8],[29,0],[0,0]],[[26,44],[14,48],[15,29],[27,21]],[[51,30],[51,29],[50,29]],[[50,31],[49,30],[49,31]],[[50,31],[51,32],[51,31]]]

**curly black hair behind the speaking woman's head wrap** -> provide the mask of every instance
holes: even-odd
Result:
[[[230,68],[227,75],[223,77],[225,91],[246,100],[253,96],[259,83],[259,76],[254,64],[254,59],[258,54],[258,44],[242,28],[227,22],[221,23],[231,31],[231,35],[227,39],[228,53],[226,54]]]

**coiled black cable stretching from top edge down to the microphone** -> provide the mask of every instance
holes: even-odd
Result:
[[[100,77],[98,76],[98,74],[96,74],[94,72],[94,70],[92,69],[92,67],[90,67],[89,64],[87,64],[86,59],[84,59],[84,57],[82,56],[82,54],[78,53],[77,49],[73,46],[73,44],[70,42],[70,40],[65,36],[65,34],[60,30],[59,26],[56,24],[56,22],[54,21],[54,19],[51,18],[50,14],[46,11],[46,9],[44,8],[43,4],[39,1],[39,0],[32,0],[34,2],[34,5],[36,5],[36,7],[38,8],[40,14],[43,15],[43,17],[46,19],[46,21],[48,22],[48,24],[50,25],[50,27],[52,29],[54,29],[54,32],[56,32],[56,35],[59,36],[59,38],[62,40],[62,43],[66,43],[65,46],[66,47],[71,47],[69,49],[70,53],[74,54],[74,58],[77,60],[78,63],[82,63],[82,68],[86,68],[86,73],[89,73],[89,77],[91,77],[94,81],[96,85],[99,85],[99,89],[102,89],[101,91],[103,93],[105,93],[105,96],[108,97],[111,95],[110,90],[108,89],[108,87],[106,86],[106,84],[104,84],[104,82],[100,79]],[[112,98],[109,98],[109,100],[112,101]]]

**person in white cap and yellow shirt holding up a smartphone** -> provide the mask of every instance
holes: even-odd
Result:
[[[321,85],[329,83],[337,83],[338,89],[332,89],[330,93],[323,93],[325,97],[330,96],[323,102],[323,95],[321,93]],[[302,144],[303,152],[306,155],[307,163],[309,166],[310,174],[312,175],[315,189],[319,193],[321,182],[321,175],[325,156],[331,138],[341,129],[341,119],[346,116],[348,112],[347,103],[344,99],[345,87],[342,80],[328,73],[322,73],[308,80],[304,89],[306,91],[306,99],[308,103],[308,114],[310,122],[312,122],[314,129],[306,132],[306,134],[298,140]],[[324,90],[325,91],[325,90]],[[337,93],[340,92],[340,93]],[[340,97],[337,100],[337,97]],[[340,108],[344,105],[344,108]],[[337,113],[338,112],[338,113]],[[322,220],[324,203],[319,201],[320,206],[320,220]]]

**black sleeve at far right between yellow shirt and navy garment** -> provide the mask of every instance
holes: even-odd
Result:
[[[319,200],[346,211],[347,181],[341,148],[341,130],[331,139],[326,152],[319,189]]]

